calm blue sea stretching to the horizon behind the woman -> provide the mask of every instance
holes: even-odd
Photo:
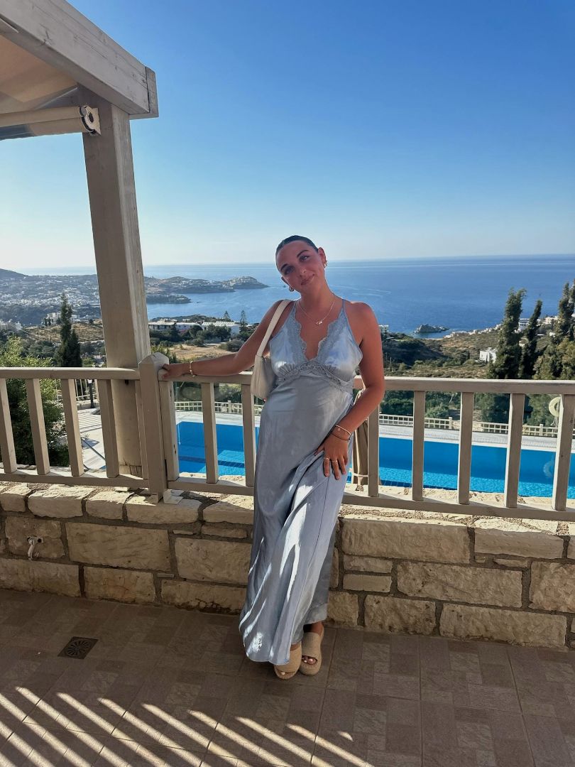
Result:
[[[95,268],[19,270],[27,274],[87,274]],[[148,304],[148,317],[186,317],[225,311],[238,320],[258,322],[279,298],[291,298],[271,263],[144,265],[149,277],[187,277],[224,280],[249,275],[266,288],[232,293],[190,294],[189,304]],[[327,266],[330,288],[350,301],[366,301],[389,331],[413,334],[420,324],[453,331],[492,328],[501,321],[511,288],[524,288],[522,316],[543,301],[543,314],[557,314],[565,282],[575,278],[575,255],[504,255],[465,258],[388,258],[380,261],[334,261]],[[432,336],[433,337],[433,336]]]

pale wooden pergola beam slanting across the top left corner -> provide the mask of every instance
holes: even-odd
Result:
[[[0,35],[127,114],[157,117],[153,71],[65,0],[0,0]]]

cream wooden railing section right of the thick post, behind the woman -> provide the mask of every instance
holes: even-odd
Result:
[[[161,378],[161,376],[160,376]],[[166,444],[171,446],[167,461],[167,485],[175,490],[209,490],[249,494],[253,492],[255,469],[254,406],[250,392],[250,374],[228,376],[225,379],[196,377],[202,392],[202,420],[205,440],[205,479],[183,475],[179,472],[175,409],[167,407],[163,398],[163,424]],[[182,379],[184,380],[184,379]],[[215,429],[214,385],[218,383],[241,385],[241,415],[244,425],[245,482],[223,482],[219,479],[218,448]],[[362,387],[358,377],[354,383]],[[170,392],[172,385],[168,384]],[[166,382],[160,383],[160,388]],[[380,492],[379,426],[380,417],[375,411],[368,419],[367,426],[367,492],[347,492],[344,502],[360,505],[381,506],[391,509],[411,509],[432,512],[455,512],[474,515],[515,516],[525,518],[554,518],[575,521],[575,505],[567,509],[567,490],[571,449],[573,444],[573,421],[575,420],[575,382],[572,381],[523,381],[523,380],[477,380],[445,378],[390,377],[386,379],[389,391],[413,392],[412,425],[412,487],[408,497]],[[424,495],[423,454],[425,446],[426,392],[445,391],[461,393],[460,416],[458,420],[458,479],[454,501],[439,501]],[[504,479],[503,505],[470,500],[471,484],[471,441],[474,422],[474,399],[476,393],[509,394],[510,416],[508,427],[507,463]],[[541,505],[527,505],[518,500],[519,467],[521,463],[521,437],[523,433],[524,403],[527,395],[537,393],[561,397],[559,426],[557,427],[554,484],[550,502]],[[221,403],[225,405],[227,403]],[[196,406],[199,407],[199,406]],[[409,417],[409,416],[406,416]],[[429,420],[433,421],[433,420]],[[436,428],[436,426],[431,426]],[[537,427],[535,427],[537,428]]]

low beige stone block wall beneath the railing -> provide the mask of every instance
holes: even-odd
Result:
[[[247,496],[0,483],[0,588],[238,612],[252,518]],[[344,512],[329,610],[342,626],[575,647],[575,525]]]

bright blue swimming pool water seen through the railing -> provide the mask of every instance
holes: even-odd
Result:
[[[220,474],[244,474],[244,444],[241,426],[218,423],[218,464]],[[255,430],[256,443],[258,428]],[[202,423],[178,424],[179,469],[205,473]],[[471,448],[471,490],[503,492],[504,447],[474,445]],[[430,488],[457,488],[458,445],[426,440],[423,482]],[[519,494],[550,496],[553,489],[555,454],[547,450],[522,450]],[[380,437],[380,479],[386,485],[411,486],[411,439]],[[575,461],[571,461],[569,498],[575,498]]]

